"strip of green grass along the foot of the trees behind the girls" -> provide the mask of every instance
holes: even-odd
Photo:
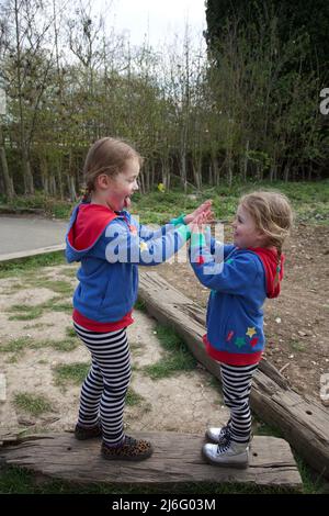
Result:
[[[321,181],[253,181],[247,183],[235,181],[231,187],[223,182],[218,187],[204,184],[201,192],[190,188],[184,194],[179,188],[171,191],[159,192],[154,190],[147,194],[135,193],[133,213],[138,214],[143,224],[163,224],[179,212],[189,213],[206,199],[213,199],[214,211],[219,220],[232,217],[241,194],[260,189],[280,190],[291,200],[297,221],[310,224],[329,223],[329,180]],[[73,203],[47,198],[41,193],[34,197],[18,197],[14,206],[9,207],[38,207],[45,214],[59,218],[69,218]],[[2,202],[4,204],[4,201]]]

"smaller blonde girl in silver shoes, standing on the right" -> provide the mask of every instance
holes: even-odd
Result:
[[[203,456],[216,465],[248,464],[249,395],[265,345],[262,305],[266,298],[280,294],[282,247],[292,220],[285,195],[259,191],[240,199],[232,245],[206,240],[203,215],[192,226],[191,263],[201,283],[212,290],[204,343],[219,362],[224,401],[230,411],[227,425],[206,430],[212,442],[204,445]]]

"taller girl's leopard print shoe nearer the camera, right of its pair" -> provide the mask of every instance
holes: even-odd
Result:
[[[144,460],[152,455],[151,444],[143,439],[125,436],[122,446],[110,447],[102,444],[101,452],[107,460]]]

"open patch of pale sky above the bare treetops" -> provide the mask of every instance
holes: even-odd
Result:
[[[148,34],[152,46],[183,35],[186,22],[191,34],[205,29],[204,0],[100,0],[107,5],[106,21],[116,33],[125,33],[133,45],[140,45]]]

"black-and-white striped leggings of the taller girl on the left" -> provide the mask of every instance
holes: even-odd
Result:
[[[91,368],[82,384],[78,424],[93,426],[101,419],[103,441],[122,444],[123,411],[129,385],[131,351],[126,328],[91,332],[73,323],[77,335],[91,354]]]

